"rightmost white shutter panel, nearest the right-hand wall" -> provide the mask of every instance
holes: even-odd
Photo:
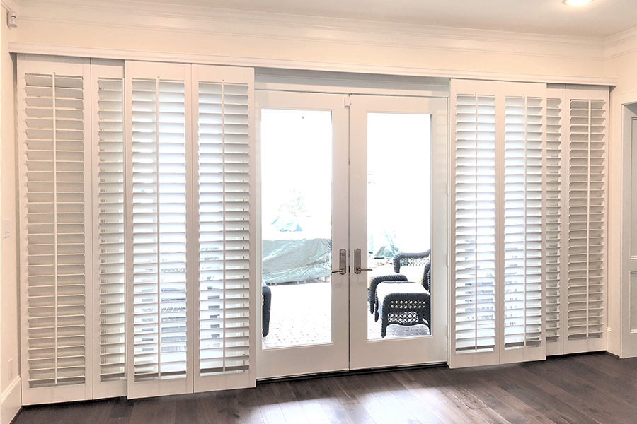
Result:
[[[608,90],[567,90],[568,305],[564,352],[606,348]]]

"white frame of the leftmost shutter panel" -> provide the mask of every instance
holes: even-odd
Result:
[[[93,350],[91,346],[92,343],[90,342],[92,340],[93,307],[92,307],[92,302],[89,300],[89,299],[92,299],[92,285],[87,283],[88,282],[87,276],[92,276],[92,266],[93,266],[93,261],[92,261],[93,249],[91,248],[91,242],[90,242],[92,237],[91,206],[90,206],[91,202],[87,201],[87,198],[91,197],[91,172],[83,172],[84,175],[79,180],[77,178],[74,178],[72,175],[74,172],[76,173],[80,169],[84,171],[88,171],[86,170],[86,164],[91,163],[91,143],[89,142],[90,134],[91,134],[91,124],[90,124],[91,114],[90,114],[90,106],[89,106],[91,104],[90,71],[91,70],[90,70],[88,59],[57,58],[57,57],[53,58],[53,57],[31,56],[31,55],[25,55],[25,54],[18,55],[18,184],[19,184],[18,198],[19,198],[19,214],[20,214],[20,225],[18,227],[18,230],[19,230],[18,240],[20,240],[20,266],[21,266],[21,271],[20,271],[21,335],[20,337],[21,337],[21,375],[23,377],[22,378],[22,401],[24,405],[40,404],[42,402],[56,403],[56,402],[66,402],[66,401],[80,401],[80,400],[92,399],[93,397],[93,381],[92,381],[92,378],[93,378],[92,352]],[[59,144],[59,147],[57,143],[53,144],[54,142],[52,141],[53,151],[56,151],[56,148],[57,148],[57,151],[59,152],[67,151],[70,153],[72,151],[71,149],[73,148],[72,146],[73,143],[77,144],[77,141],[81,141],[81,146],[83,149],[81,155],[75,155],[77,156],[76,159],[71,159],[71,155],[69,155],[69,153],[66,153],[67,160],[62,160],[62,162],[66,162],[69,175],[67,175],[66,177],[56,176],[55,177],[56,179],[52,180],[52,181],[57,181],[56,183],[54,183],[55,190],[52,192],[52,196],[56,196],[55,193],[57,193],[58,191],[60,193],[64,193],[64,189],[73,189],[73,186],[71,186],[71,184],[76,184],[77,182],[81,182],[81,184],[83,184],[83,192],[82,192],[83,200],[81,201],[81,203],[84,204],[84,208],[83,208],[83,211],[81,212],[82,217],[79,216],[80,213],[74,212],[74,208],[72,206],[73,203],[78,203],[78,202],[72,202],[71,201],[72,199],[69,196],[67,196],[68,199],[59,198],[57,200],[55,200],[56,197],[52,197],[52,199],[54,199],[52,200],[52,202],[56,202],[56,206],[53,206],[53,203],[51,203],[52,207],[54,207],[52,213],[56,215],[55,217],[56,220],[54,220],[53,223],[57,222],[57,219],[59,219],[57,215],[59,215],[59,213],[62,213],[62,214],[66,214],[67,218],[70,219],[68,221],[69,223],[76,223],[78,222],[76,221],[76,219],[81,218],[82,220],[80,222],[83,223],[84,225],[84,231],[82,233],[84,235],[84,242],[83,242],[84,249],[81,252],[81,255],[84,257],[84,264],[83,264],[84,277],[83,277],[83,283],[82,283],[83,292],[79,293],[76,290],[73,292],[73,293],[76,293],[74,294],[74,297],[76,298],[76,300],[80,300],[82,297],[84,298],[83,305],[77,304],[77,306],[84,307],[84,319],[82,320],[84,324],[81,324],[81,326],[84,326],[84,331],[82,335],[84,337],[84,346],[83,346],[84,381],[79,384],[73,384],[71,380],[68,381],[69,384],[42,384],[40,387],[31,387],[31,384],[30,384],[30,364],[37,363],[39,359],[34,352],[34,356],[30,360],[30,350],[29,350],[29,334],[30,334],[30,331],[29,331],[30,329],[30,319],[29,319],[30,290],[29,289],[30,288],[29,288],[29,276],[28,276],[28,264],[29,264],[28,205],[29,205],[29,201],[28,201],[28,189],[27,189],[29,170],[27,165],[27,155],[28,155],[28,151],[30,151],[30,148],[28,147],[28,143],[26,140],[27,140],[28,126],[35,124],[35,121],[31,119],[31,122],[33,124],[28,124],[27,122],[27,119],[30,119],[28,118],[28,112],[26,107],[27,96],[25,95],[26,86],[27,86],[25,76],[27,74],[50,76],[52,79],[56,79],[55,76],[59,76],[60,81],[68,80],[67,82],[69,83],[71,82],[72,79],[81,78],[81,83],[79,84],[79,86],[76,81],[75,83],[72,84],[74,88],[71,90],[65,90],[64,88],[62,88],[62,89],[56,90],[56,92],[53,93],[53,89],[51,89],[52,95],[54,95],[55,97],[59,96],[59,98],[64,98],[67,95],[72,95],[71,91],[81,88],[82,90],[81,105],[79,104],[79,102],[76,102],[76,101],[62,100],[62,102],[55,103],[56,110],[55,111],[52,110],[52,115],[50,115],[51,118],[55,117],[56,120],[59,120],[61,124],[62,122],[64,122],[64,124],[62,124],[62,129],[59,131],[55,131],[54,139],[57,140],[57,137],[59,134],[59,136],[62,138],[69,137],[69,140],[74,140],[70,143],[62,142]],[[67,86],[67,84],[64,84],[64,86]],[[40,93],[35,93],[35,96],[39,96],[39,95]],[[31,109],[38,110],[39,107],[42,107],[42,105],[44,105],[42,102],[40,102],[40,100],[37,100],[36,103],[37,104],[31,107]],[[81,110],[81,114],[77,114],[76,112],[74,112],[74,111],[80,111],[80,110]],[[45,115],[41,115],[41,116],[45,116]],[[77,122],[77,119],[79,119],[80,116],[81,116],[81,124],[80,125],[73,124],[73,122]],[[77,134],[71,134],[71,131],[64,132],[64,129],[66,128],[71,129],[71,131],[81,130],[82,139],[80,140],[75,138],[74,136],[76,136]],[[54,154],[55,153],[52,153],[52,160],[53,158],[57,158],[57,154],[56,155]],[[80,167],[74,167],[72,163],[79,162],[79,160],[81,160]],[[50,170],[51,178],[53,178],[53,172],[59,173],[57,170],[57,162],[59,161],[60,161],[59,158],[57,158],[56,163],[52,162],[51,170]],[[66,171],[62,170],[62,172],[66,172]],[[62,177],[62,182],[59,182],[59,180],[57,180],[57,178],[59,177]],[[68,182],[65,182],[65,181],[68,181]],[[67,203],[69,201],[71,202]],[[57,208],[59,206],[62,206],[62,212],[57,212]],[[40,209],[40,210],[44,210],[44,209]],[[65,224],[57,223],[55,225],[54,232],[52,233],[52,237],[57,237],[55,234],[57,234],[57,232],[59,232],[60,230],[72,230],[71,225],[65,225],[62,228],[60,227],[60,225],[65,225]],[[64,235],[64,231],[62,231],[62,233]],[[72,234],[76,234],[76,233],[72,233]],[[71,233],[68,234],[68,236],[70,235]],[[72,245],[76,244],[76,241],[71,240],[73,239],[73,237],[67,237],[67,239],[69,243],[69,245],[67,245],[68,248],[65,248],[63,243],[57,243],[56,241],[52,241],[52,246],[54,246],[54,250],[53,250],[54,255],[56,254],[55,252],[59,252],[60,247],[64,249],[64,252],[68,252],[68,253],[71,253],[74,250],[76,250],[71,248]],[[57,253],[58,259],[61,259],[59,258],[59,256],[61,254],[64,255],[65,254],[64,252]],[[69,259],[71,258],[69,257]],[[57,263],[57,269],[54,271],[54,275],[58,275],[58,276],[60,275],[57,272],[60,271],[59,269],[60,265],[64,266],[64,262],[65,262],[64,259],[61,262],[62,263],[60,263],[59,261],[54,262],[54,264]],[[69,272],[70,271],[71,269],[69,269]],[[64,274],[62,273],[61,275],[64,275]],[[57,287],[59,287],[59,285],[55,283],[55,281],[57,281],[57,277],[53,277],[53,278],[55,279],[54,279],[52,288],[54,290],[54,293],[57,293]],[[44,287],[44,286],[40,286],[40,287]],[[70,287],[70,285],[68,287]],[[35,286],[33,286],[33,288],[35,288]],[[59,295],[55,294],[54,296],[58,297]],[[57,311],[57,307],[55,307],[54,304],[55,302],[52,303],[51,305],[54,308],[54,310]],[[64,314],[59,315],[58,312],[53,312],[54,317],[58,317],[58,318],[64,317]],[[53,319],[55,320],[56,318],[53,318]],[[69,323],[76,322],[76,319],[71,319],[71,316],[69,315],[67,315],[67,319],[70,319]],[[55,341],[57,340],[57,338],[64,337],[64,336],[59,336],[57,334],[57,329],[63,328],[63,327],[59,327],[59,325],[62,325],[62,324],[58,324],[58,327],[54,327],[55,336],[54,336],[54,341],[52,341],[52,343],[53,343],[53,346],[59,346],[60,348],[64,349],[64,346],[60,346],[57,343],[57,341]],[[79,326],[79,325],[75,325],[75,326]],[[33,328],[35,328],[35,326]],[[51,349],[51,348],[45,348],[45,349]],[[53,365],[54,369],[57,369],[59,367],[64,367],[65,364],[64,363],[60,364],[59,362],[57,362],[57,359],[56,359],[56,358],[64,358],[64,355],[57,354],[56,353],[58,352],[57,348],[53,347],[52,349],[54,349],[52,360],[54,361],[54,364],[57,364],[57,366]],[[66,349],[68,351],[69,347],[67,347]],[[68,353],[73,355],[71,351],[69,351]],[[67,362],[74,363],[73,360],[70,360]],[[37,367],[37,365],[34,365],[33,369],[35,369],[35,367]],[[81,366],[76,366],[75,368],[81,368]],[[59,378],[62,378],[62,379],[65,378],[64,374],[59,375],[56,373],[55,375],[57,375]]]

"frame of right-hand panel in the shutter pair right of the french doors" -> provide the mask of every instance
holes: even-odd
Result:
[[[517,105],[510,102],[511,100],[516,99],[517,102],[520,102],[520,105],[524,106],[524,110],[516,111]],[[500,285],[500,298],[501,298],[501,308],[504,313],[503,317],[503,331],[502,331],[502,340],[500,343],[500,363],[520,363],[529,360],[542,360],[546,358],[546,342],[545,342],[545,296],[544,296],[544,285],[545,285],[545,247],[546,247],[546,84],[542,83],[509,83],[503,82],[500,83],[500,112],[503,114],[502,119],[500,119],[500,146],[501,146],[501,155],[502,162],[500,164],[500,170],[502,172],[502,185],[500,186],[500,194],[503,196],[500,201],[500,213],[502,214],[502,248],[500,250],[500,269],[502,270],[502,279]],[[524,196],[524,335],[525,340],[523,346],[518,347],[507,347],[507,319],[510,308],[507,307],[507,303],[515,303],[515,301],[507,301],[507,280],[511,278],[511,276],[507,276],[507,269],[511,269],[507,267],[508,263],[511,261],[515,261],[512,259],[507,259],[507,256],[510,255],[510,250],[507,249],[507,245],[510,245],[511,239],[515,239],[515,234],[512,234],[511,231],[515,232],[515,226],[512,226],[506,222],[507,216],[510,217],[511,208],[509,202],[511,199],[515,199],[515,192],[509,192],[512,196],[507,196],[507,184],[511,184],[512,179],[515,179],[515,173],[507,175],[507,168],[510,166],[516,166],[517,157],[515,156],[517,151],[516,141],[520,136],[513,136],[509,134],[517,134],[515,131],[511,132],[512,125],[515,124],[515,121],[520,122],[520,115],[518,113],[522,113],[522,125],[524,126],[523,137],[524,137],[524,153],[521,157],[524,161],[524,172],[522,174],[524,177],[524,188],[522,191],[522,195]],[[535,115],[533,115],[535,114]],[[539,117],[539,123],[537,122],[537,117]],[[538,128],[539,126],[539,128]],[[539,131],[539,132],[538,132]],[[539,134],[539,140],[533,140],[530,134],[536,134],[535,139],[537,139]],[[533,143],[535,141],[535,143]],[[531,153],[529,153],[529,151]],[[507,153],[509,152],[509,153]],[[529,156],[530,155],[530,156]],[[539,155],[539,162],[537,160]],[[519,156],[519,154],[518,154]],[[534,160],[529,160],[530,158],[535,158]],[[510,162],[509,162],[510,160]],[[519,161],[519,160],[518,160]],[[535,163],[536,165],[530,165]],[[534,167],[536,172],[536,177],[532,177],[529,175],[529,165]],[[538,187],[538,177],[537,172],[539,172],[539,187]],[[507,178],[509,177],[509,178]],[[532,180],[534,178],[534,181]],[[533,182],[529,182],[532,180]],[[529,186],[529,184],[533,184]],[[510,187],[510,186],[509,186]],[[533,187],[529,189],[529,187]],[[532,199],[536,199],[539,195],[540,201],[532,201]],[[531,199],[531,201],[529,201]],[[533,206],[532,206],[533,205]],[[513,206],[515,207],[515,206]],[[531,209],[531,213],[536,214],[539,213],[539,232],[538,225],[534,224],[529,228],[529,209]],[[539,211],[538,211],[539,209]],[[533,212],[534,211],[534,212]],[[533,215],[532,215],[533,216]],[[508,230],[507,230],[508,228]],[[509,237],[511,237],[511,239]],[[529,240],[537,239],[539,237],[539,247],[534,247],[534,249],[529,249]],[[536,242],[537,243],[537,242]],[[515,242],[513,242],[515,244]],[[520,250],[517,250],[520,252]],[[537,262],[537,255],[539,254],[539,267],[534,265],[532,269],[534,269],[533,274],[529,274],[529,255],[531,256],[530,261],[532,263]],[[537,269],[539,268],[539,270]],[[529,278],[529,276],[535,276],[535,278]],[[535,283],[532,283],[535,286],[534,290],[529,291],[529,279],[537,279]],[[530,295],[532,304],[535,306],[529,306],[529,293],[534,293],[534,295]],[[536,296],[540,296],[539,302],[536,301]],[[527,346],[528,341],[526,340],[527,331],[529,331],[529,312],[533,310],[539,310],[539,324],[533,324],[533,326],[539,325],[539,330],[534,330],[533,334],[538,334],[536,331],[539,331],[539,335],[536,338],[536,341],[532,343],[531,346]],[[532,322],[537,322],[536,319],[532,319]],[[513,343],[515,345],[515,343]]]

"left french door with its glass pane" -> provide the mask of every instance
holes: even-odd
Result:
[[[258,91],[257,378],[348,369],[348,110]]]

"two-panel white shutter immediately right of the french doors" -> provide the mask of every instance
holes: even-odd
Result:
[[[544,343],[546,85],[452,80],[452,367]]]

